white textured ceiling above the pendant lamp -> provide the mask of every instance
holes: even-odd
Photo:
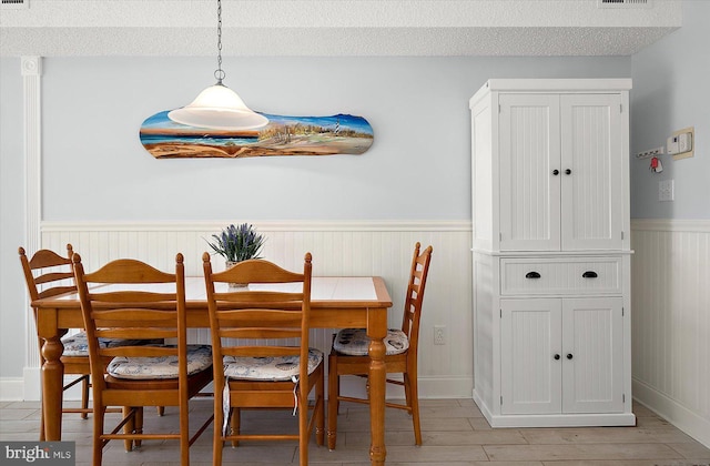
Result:
[[[223,0],[223,54],[630,55],[681,27],[681,0],[618,1]],[[2,57],[216,53],[215,0],[24,0],[0,14]]]

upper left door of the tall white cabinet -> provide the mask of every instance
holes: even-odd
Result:
[[[559,250],[559,95],[501,94],[499,103],[500,250]]]

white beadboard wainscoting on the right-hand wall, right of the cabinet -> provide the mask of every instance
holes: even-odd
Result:
[[[631,231],[633,395],[710,447],[710,221]]]

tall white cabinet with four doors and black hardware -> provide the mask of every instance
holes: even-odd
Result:
[[[635,425],[629,79],[470,99],[474,399],[494,427]]]

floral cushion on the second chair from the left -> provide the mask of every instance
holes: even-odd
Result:
[[[163,346],[163,345],[159,345]],[[164,345],[171,346],[171,345]],[[171,347],[174,347],[172,345]],[[187,345],[187,375],[212,365],[212,346]],[[106,372],[115,378],[178,378],[178,356],[125,357],[111,359]]]

